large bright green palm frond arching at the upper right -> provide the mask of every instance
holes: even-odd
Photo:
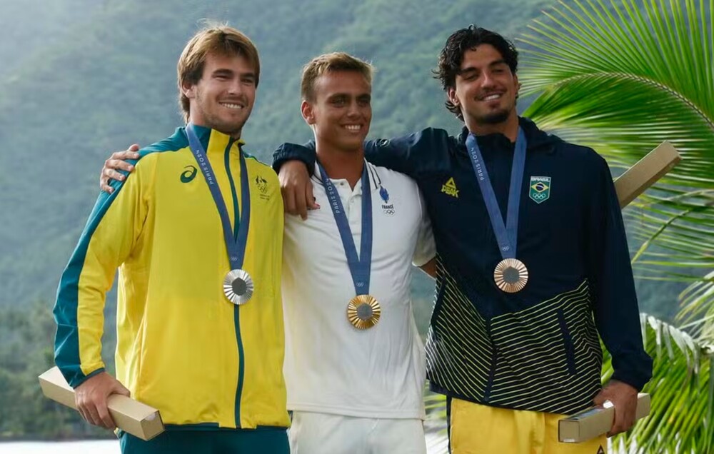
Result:
[[[642,245],[634,261],[641,277],[661,278],[672,266],[662,251],[685,254],[688,268],[714,268],[713,4],[560,1],[520,39],[528,45],[523,94],[540,93],[525,115],[540,126],[595,148],[615,168],[663,140],[682,153],[625,211]]]

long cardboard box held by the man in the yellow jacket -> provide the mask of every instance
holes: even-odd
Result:
[[[77,409],[74,402],[74,389],[64,379],[59,368],[47,370],[39,376],[39,380],[42,393],[46,397],[69,408]],[[142,440],[151,440],[164,432],[164,423],[156,408],[118,394],[109,396],[107,407],[118,428]]]

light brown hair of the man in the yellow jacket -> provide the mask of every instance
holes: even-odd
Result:
[[[183,111],[183,119],[188,122],[188,98],[183,94],[183,84],[198,84],[203,76],[203,66],[208,54],[221,56],[240,55],[253,65],[256,71],[256,87],[261,75],[261,61],[253,41],[240,31],[227,25],[211,25],[201,29],[188,41],[178,59],[178,104]]]

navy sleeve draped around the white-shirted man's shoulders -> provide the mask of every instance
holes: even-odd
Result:
[[[448,151],[451,141],[453,138],[443,129],[426,128],[408,136],[365,141],[364,153],[367,161],[375,166],[391,168],[417,178],[421,171],[431,168],[431,163],[439,161],[438,156]],[[305,163],[308,172],[312,173],[315,158],[313,141],[304,145],[283,143],[273,153],[273,169],[279,172],[283,163],[297,159]]]

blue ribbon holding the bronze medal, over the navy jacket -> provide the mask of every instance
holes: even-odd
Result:
[[[498,250],[501,257],[516,258],[516,248],[518,246],[518,208],[521,206],[521,186],[523,186],[523,171],[526,168],[526,134],[518,128],[518,138],[516,138],[516,150],[513,153],[513,165],[511,166],[511,186],[508,190],[508,210],[506,211],[506,225],[503,225],[503,216],[498,208],[496,193],[493,192],[491,179],[488,178],[486,163],[483,162],[481,150],[478,148],[476,136],[472,133],[466,138],[466,148],[468,156],[473,164],[473,171],[476,173],[476,181],[481,188],[483,201],[486,203],[488,217],[491,218],[493,233],[496,234]]]

